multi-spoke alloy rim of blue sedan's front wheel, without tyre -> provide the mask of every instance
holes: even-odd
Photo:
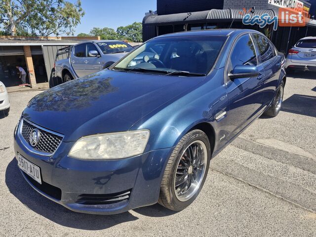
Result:
[[[200,140],[185,149],[174,179],[174,191],[179,201],[187,201],[197,193],[205,174],[207,157],[206,146]]]

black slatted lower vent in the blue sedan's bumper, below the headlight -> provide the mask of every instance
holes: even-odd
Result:
[[[131,190],[122,191],[115,194],[81,194],[76,203],[84,205],[113,204],[127,201]]]

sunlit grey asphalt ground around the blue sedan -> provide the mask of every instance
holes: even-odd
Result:
[[[10,93],[0,118],[0,236],[316,236],[316,75],[290,75],[276,118],[259,118],[211,160],[181,212],[160,205],[112,216],[72,212],[21,176],[13,130],[40,91]]]

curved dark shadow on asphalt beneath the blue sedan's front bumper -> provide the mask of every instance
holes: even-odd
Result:
[[[138,218],[129,212],[117,215],[91,215],[73,212],[33,190],[24,180],[13,158],[5,172],[5,183],[16,198],[32,211],[65,227],[81,230],[104,230],[123,222],[135,221]]]

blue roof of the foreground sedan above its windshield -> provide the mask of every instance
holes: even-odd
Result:
[[[243,33],[243,32],[253,32],[259,33],[255,30],[250,29],[213,29],[213,30],[199,30],[199,31],[185,31],[185,32],[178,32],[178,33],[171,33],[167,35],[158,36],[156,38],[164,38],[164,37],[181,37],[181,36],[229,36],[233,33]]]

